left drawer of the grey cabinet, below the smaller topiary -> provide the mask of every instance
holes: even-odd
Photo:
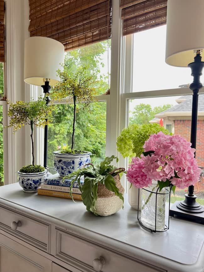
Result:
[[[15,226],[15,222],[18,221],[20,221],[20,226],[17,227]],[[12,222],[14,222],[13,225]],[[17,227],[16,230],[14,229],[15,227]],[[24,240],[26,243],[50,253],[51,226],[45,222],[38,221],[5,207],[0,207],[0,228]]]

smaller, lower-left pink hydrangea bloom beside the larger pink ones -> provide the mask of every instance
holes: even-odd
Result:
[[[152,179],[142,171],[144,168],[144,158],[133,157],[127,170],[127,180],[137,188],[147,187],[152,183]]]

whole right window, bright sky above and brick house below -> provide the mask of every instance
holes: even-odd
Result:
[[[190,141],[192,91],[188,87],[193,77],[190,68],[171,67],[165,63],[166,25],[128,35],[123,40],[125,48],[131,50],[125,50],[125,56],[122,57],[125,62],[125,65],[122,63],[122,68],[125,67],[130,72],[128,74],[123,72],[125,78],[122,78],[124,87],[121,96],[121,130],[132,123],[158,123],[169,132],[180,134]],[[129,82],[131,87],[126,88]],[[204,83],[203,75],[201,82]],[[201,106],[203,96],[203,89],[201,89],[200,115],[203,111]],[[186,112],[187,104],[190,109]],[[182,112],[183,116],[181,116]],[[204,127],[202,122],[202,117],[198,117],[196,160],[204,172],[203,143],[200,137]],[[120,165],[121,162],[126,168],[128,167],[128,160],[120,157]],[[203,176],[201,174],[200,180],[195,185],[198,202],[202,205],[204,203]],[[128,185],[125,184],[127,191]],[[186,192],[187,188],[177,189],[171,202],[184,200]]]

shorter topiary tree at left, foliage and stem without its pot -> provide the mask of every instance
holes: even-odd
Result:
[[[34,125],[37,127],[45,127],[45,125],[48,125],[48,120],[50,120],[49,117],[52,113],[52,106],[46,105],[46,99],[43,97],[39,97],[37,101],[32,99],[30,102],[17,101],[16,103],[11,103],[8,101],[8,104],[10,122],[7,127],[13,127],[13,133],[24,125],[30,125],[33,158],[32,165],[34,165],[33,128]]]

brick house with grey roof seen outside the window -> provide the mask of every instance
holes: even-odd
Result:
[[[158,113],[150,122],[159,124],[162,118],[165,128],[190,141],[192,95],[181,96],[176,102],[177,105]],[[196,160],[198,166],[204,169],[204,94],[200,94],[198,99]],[[195,186],[195,191],[197,190],[204,190],[204,178]]]

